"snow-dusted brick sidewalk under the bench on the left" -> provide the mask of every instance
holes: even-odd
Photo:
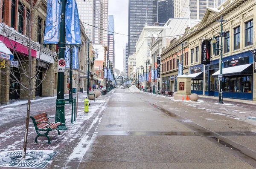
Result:
[[[87,133],[94,125],[99,123],[102,111],[105,109],[111,94],[106,96],[100,96],[96,98],[95,102],[90,100],[89,113],[84,113],[84,99],[87,97],[87,93],[79,93],[78,99],[78,111],[76,121],[71,124],[71,105],[65,105],[65,118],[66,118],[66,131],[60,131],[58,135],[57,131],[53,130],[49,132],[51,144],[47,144],[47,137],[38,137],[38,143],[35,143],[35,132],[34,124],[32,120],[29,121],[29,133],[27,141],[27,156],[30,158],[41,157],[41,164],[37,163],[35,159],[23,160],[19,159],[11,160],[9,158],[6,161],[11,163],[5,163],[0,161],[0,169],[6,168],[1,166],[12,166],[18,165],[30,166],[33,168],[43,167],[51,163],[52,158],[56,161],[67,160],[67,155],[71,155],[70,159],[76,156],[76,153],[81,151],[75,149],[81,137],[83,141],[90,140],[91,134]],[[65,96],[67,97],[67,95]],[[74,94],[73,97],[76,97]],[[49,116],[55,116],[55,101],[56,97],[44,97],[37,100],[32,100],[31,115],[37,115],[41,112],[46,112]],[[4,123],[0,124],[0,156],[7,156],[6,154],[12,154],[17,156],[23,147],[23,137],[26,122],[26,100],[20,100],[10,105],[0,106],[0,115],[5,120]],[[10,119],[12,121],[10,122]],[[70,149],[69,154],[63,152],[64,149]],[[18,151],[20,150],[20,151]],[[10,152],[11,151],[11,152]],[[9,152],[9,153],[7,153]],[[80,153],[79,153],[80,154]],[[63,156],[60,158],[60,156]],[[48,164],[47,162],[50,161]],[[13,168],[12,168],[13,169]]]

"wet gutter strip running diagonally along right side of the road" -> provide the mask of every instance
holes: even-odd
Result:
[[[151,102],[151,101],[149,101],[149,100],[145,100],[144,98],[141,98],[141,97],[140,97],[140,99],[143,100],[143,101],[145,101],[146,103],[149,103],[149,105],[153,106],[155,109],[158,109],[158,107],[159,107],[159,108],[163,109],[164,111],[169,112],[169,110],[166,110],[165,107],[159,106],[159,105],[157,105],[156,103],[153,103],[153,102]],[[155,106],[155,105],[156,105],[156,106]],[[162,111],[162,112],[163,112],[163,113],[166,113],[166,112],[164,112],[164,111]],[[173,115],[177,115],[177,114],[173,114]],[[188,120],[188,119],[186,119],[185,117],[182,117],[181,115],[177,115],[177,116],[183,118],[184,120]],[[199,130],[199,131],[206,130],[206,131],[204,131],[204,132],[214,133],[214,134],[216,135],[216,137],[206,137],[206,138],[207,138],[208,140],[210,140],[211,142],[215,143],[216,145],[218,145],[219,147],[222,147],[222,148],[223,148],[224,145],[222,145],[222,144],[219,143],[219,142],[216,142],[216,139],[217,139],[217,140],[221,140],[222,142],[228,143],[229,145],[231,145],[232,147],[235,148],[235,149],[228,148],[228,151],[229,151],[231,154],[233,154],[233,155],[239,157],[241,160],[244,160],[244,161],[246,161],[247,163],[249,163],[250,165],[256,167],[256,160],[255,160],[255,159],[256,159],[256,152],[254,152],[253,150],[248,149],[247,147],[244,147],[244,146],[242,146],[242,145],[240,145],[240,144],[238,144],[238,143],[235,143],[235,142],[233,142],[232,140],[230,140],[230,139],[228,139],[228,138],[226,138],[226,137],[224,137],[224,136],[218,134],[217,132],[213,132],[213,131],[211,131],[211,130],[209,130],[209,129],[207,129],[207,128],[205,128],[205,127],[203,127],[203,126],[201,126],[201,125],[199,125],[199,124],[197,124],[197,123],[195,123],[195,122],[192,122],[192,121],[191,121],[190,123],[187,123],[187,122],[180,122],[179,120],[177,120],[177,118],[174,118],[174,117],[172,117],[172,119],[175,120],[175,121],[177,121],[178,123],[183,124],[183,125],[186,126],[187,128],[192,129],[194,132],[197,132],[197,131],[195,131],[195,130]],[[192,125],[192,124],[194,124],[194,125]],[[198,128],[198,126],[199,126],[199,128]],[[201,128],[201,129],[200,129],[200,128]],[[202,135],[202,136],[203,136],[203,135]],[[218,143],[218,144],[217,144],[217,143]],[[226,146],[225,146],[225,147],[226,147]],[[227,149],[226,149],[226,150],[227,150]],[[239,151],[238,151],[238,150],[239,150]]]

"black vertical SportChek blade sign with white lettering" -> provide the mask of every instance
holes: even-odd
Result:
[[[201,45],[201,63],[210,64],[211,63],[211,43],[209,40],[204,40]]]

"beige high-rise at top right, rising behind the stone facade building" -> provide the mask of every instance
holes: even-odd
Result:
[[[200,20],[206,8],[216,8],[218,1],[223,0],[174,0],[174,17]]]

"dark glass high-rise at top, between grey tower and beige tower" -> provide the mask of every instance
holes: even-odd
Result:
[[[153,13],[157,13],[154,17],[154,23],[160,23],[163,26],[170,18],[174,18],[174,1],[173,0],[154,0]]]

